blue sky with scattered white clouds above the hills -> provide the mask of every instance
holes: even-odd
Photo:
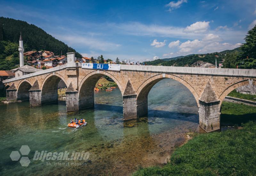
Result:
[[[234,49],[256,25],[255,0],[0,0],[0,9],[0,16],[35,24],[83,56],[112,60]]]

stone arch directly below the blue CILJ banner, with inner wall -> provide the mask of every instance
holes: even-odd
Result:
[[[90,108],[94,106],[94,87],[98,82],[100,77],[109,76],[111,79],[115,81],[118,85],[121,93],[123,94],[124,90],[122,85],[118,82],[118,80],[111,74],[105,71],[96,70],[92,71],[88,75],[86,75],[83,80],[79,84],[78,91],[78,106],[79,109]]]

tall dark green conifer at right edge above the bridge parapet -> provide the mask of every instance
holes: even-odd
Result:
[[[241,46],[241,55],[236,65],[238,68],[256,68],[256,25],[248,31]]]

